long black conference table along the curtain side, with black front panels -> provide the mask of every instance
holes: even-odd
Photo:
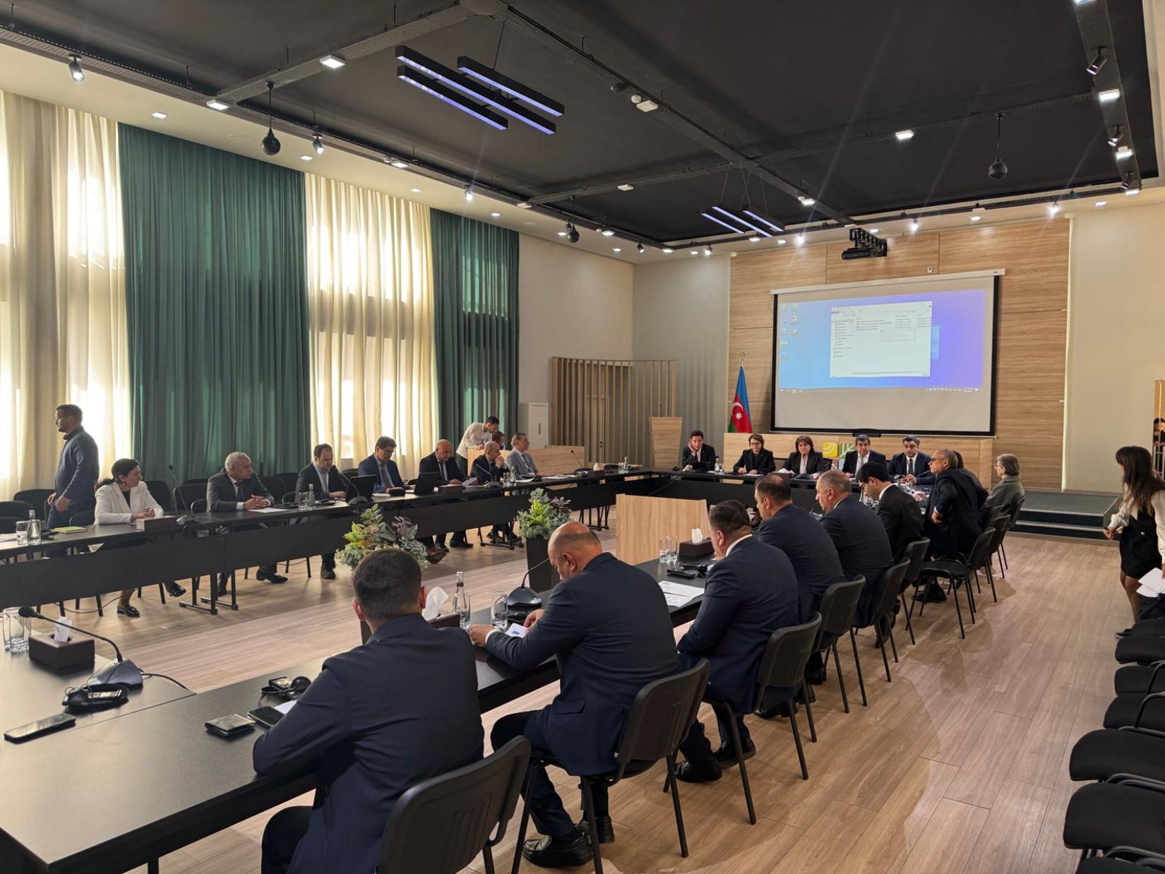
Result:
[[[748,474],[652,468],[586,471],[513,486],[467,486],[453,494],[376,495],[374,506],[381,508],[386,521],[408,517],[417,526],[417,535],[425,536],[508,524],[527,508],[535,488],[566,498],[571,512],[609,507],[620,494],[708,503],[735,499],[751,506],[757,479]],[[813,509],[813,480],[795,477],[790,484],[793,502]],[[343,544],[344,535],[365,508],[341,501],[312,508],[196,513],[188,514],[181,527],[156,533],[133,524],[101,524],[37,544],[17,545],[14,537],[0,538],[0,608],[93,598],[202,577],[209,612],[217,613],[221,601],[210,583],[214,575],[331,552]],[[105,544],[114,548],[91,549]],[[189,597],[183,605],[198,607],[193,586]],[[226,606],[238,608],[233,586]]]

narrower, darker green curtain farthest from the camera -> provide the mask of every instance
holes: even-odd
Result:
[[[517,428],[517,233],[433,210],[433,313],[440,435],[495,414]]]

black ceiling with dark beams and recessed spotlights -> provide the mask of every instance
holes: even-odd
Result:
[[[271,83],[276,131],[657,246],[722,238],[716,204],[798,231],[1158,175],[1143,13],[1116,0],[31,0],[0,41],[264,124]],[[557,132],[409,87],[398,45],[553,98]]]

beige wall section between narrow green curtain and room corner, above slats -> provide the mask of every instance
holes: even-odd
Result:
[[[518,402],[550,402],[555,355],[631,357],[633,269],[570,246],[518,238]]]

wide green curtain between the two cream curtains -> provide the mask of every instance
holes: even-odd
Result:
[[[151,479],[310,453],[302,174],[118,125],[134,451]]]

